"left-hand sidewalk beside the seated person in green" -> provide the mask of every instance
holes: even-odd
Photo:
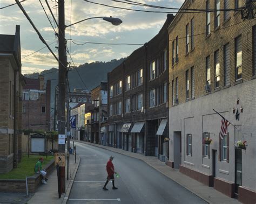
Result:
[[[70,154],[69,164],[69,180],[66,178],[66,193],[63,193],[61,198],[58,196],[58,180],[57,180],[57,170],[51,172],[48,176],[48,184],[40,185],[36,193],[28,201],[28,203],[66,203],[68,201],[69,193],[73,185],[73,180],[75,179],[77,169],[80,163],[80,158],[77,156],[77,163],[75,164],[75,155]],[[66,170],[65,177],[67,175],[67,160],[66,160]]]

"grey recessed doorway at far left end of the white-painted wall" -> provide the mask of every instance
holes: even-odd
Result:
[[[174,168],[181,164],[181,132],[173,132]]]

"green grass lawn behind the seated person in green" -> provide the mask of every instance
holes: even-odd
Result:
[[[0,174],[0,179],[26,179],[26,176],[31,176],[35,174],[34,167],[37,163],[39,157],[38,155],[30,155],[28,158],[28,155],[22,155],[22,161],[18,163],[18,167],[14,168],[8,173]],[[51,161],[54,156],[48,156],[46,159],[46,156],[43,156],[44,162],[43,162],[43,168],[46,166],[46,164]]]

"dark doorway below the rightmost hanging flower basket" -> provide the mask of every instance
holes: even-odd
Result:
[[[242,150],[235,148],[235,194],[242,185]]]

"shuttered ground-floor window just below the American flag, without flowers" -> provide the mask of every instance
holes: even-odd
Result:
[[[230,139],[229,133],[223,135],[219,135],[219,161],[224,160],[229,163],[230,161],[230,147],[229,147]]]

